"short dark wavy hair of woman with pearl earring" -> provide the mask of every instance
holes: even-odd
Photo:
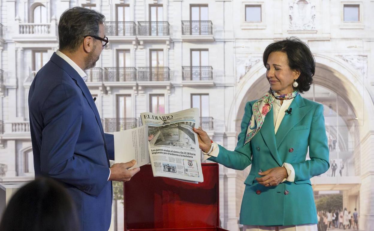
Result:
[[[281,51],[285,52],[288,58],[288,66],[291,70],[298,70],[300,76],[297,79],[297,89],[300,93],[309,91],[310,85],[313,83],[313,75],[316,69],[316,61],[308,45],[297,37],[290,37],[275,42],[267,46],[263,55],[264,66],[266,67],[267,58],[270,53]]]

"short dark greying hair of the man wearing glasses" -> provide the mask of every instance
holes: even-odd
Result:
[[[59,49],[74,52],[82,44],[84,36],[99,35],[99,25],[105,16],[83,7],[65,10],[58,23]]]

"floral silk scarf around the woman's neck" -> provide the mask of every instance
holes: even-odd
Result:
[[[258,131],[260,131],[264,121],[266,114],[272,109],[273,106],[273,97],[278,100],[289,100],[292,98],[295,98],[299,92],[297,90],[288,93],[288,94],[282,94],[279,95],[275,91],[269,91],[267,92],[263,97],[261,97],[259,100],[257,100],[253,106],[252,106],[252,116],[251,120],[249,121],[248,128],[247,128],[247,134],[245,137],[245,143],[248,143],[251,141],[251,139],[255,136]]]

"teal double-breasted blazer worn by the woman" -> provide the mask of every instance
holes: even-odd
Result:
[[[228,168],[243,170],[252,164],[244,181],[245,191],[240,209],[243,225],[317,224],[317,211],[310,178],[329,168],[329,149],[322,104],[297,95],[292,101],[291,115],[285,115],[277,134],[274,133],[273,109],[267,114],[260,131],[244,145],[252,105],[247,102],[234,151],[218,145],[217,157],[209,160]],[[282,113],[282,112],[279,112]],[[310,160],[305,160],[309,146]],[[290,148],[293,151],[290,152]],[[295,181],[277,186],[260,185],[259,170],[280,167],[286,162],[295,170]]]

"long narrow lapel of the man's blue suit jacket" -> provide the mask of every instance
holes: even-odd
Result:
[[[65,72],[67,72],[68,75],[70,75],[70,77],[76,81],[77,85],[82,90],[83,95],[85,96],[86,100],[88,101],[88,104],[90,105],[93,113],[95,114],[96,122],[99,125],[100,131],[101,131],[101,136],[102,136],[102,139],[104,140],[105,154],[107,155],[108,163],[109,163],[109,155],[108,155],[107,147],[106,147],[106,144],[105,144],[104,130],[102,129],[102,124],[101,124],[99,112],[96,108],[96,105],[95,105],[95,102],[93,101],[91,92],[89,91],[85,81],[83,81],[82,77],[78,74],[78,72],[76,70],[74,70],[74,68],[72,66],[70,66],[70,64],[68,64],[63,58],[59,57],[56,53],[53,53],[50,60],[53,63],[55,63],[56,65],[58,65],[59,67],[61,67],[63,70],[65,70]]]

